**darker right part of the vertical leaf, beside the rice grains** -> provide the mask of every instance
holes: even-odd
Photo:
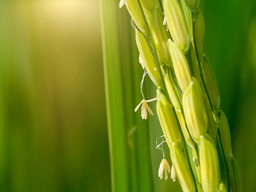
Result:
[[[142,99],[140,81],[142,68],[134,40],[134,29],[128,12],[117,9],[119,51],[122,69],[125,130],[127,134],[129,186],[131,192],[154,191],[151,168],[148,122],[134,113],[134,107]],[[135,87],[135,89],[134,89]]]

